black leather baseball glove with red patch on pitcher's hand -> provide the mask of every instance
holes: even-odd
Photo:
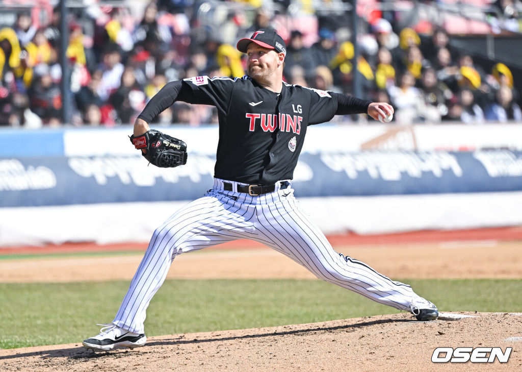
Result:
[[[141,155],[157,167],[174,168],[187,162],[187,145],[177,138],[153,129],[130,138],[135,148],[147,149],[147,153]]]

